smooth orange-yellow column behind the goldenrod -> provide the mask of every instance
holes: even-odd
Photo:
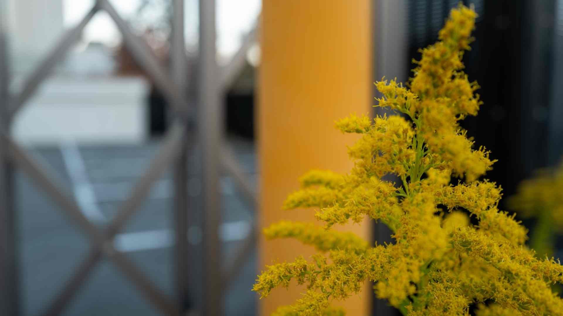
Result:
[[[352,167],[346,145],[355,137],[334,129],[334,120],[368,114],[374,103],[370,2],[263,0],[257,98],[261,227],[282,219],[314,222],[314,210],[281,210],[298,177],[314,168],[346,173]],[[340,229],[370,238],[367,222]],[[294,240],[261,237],[259,267],[313,253]],[[260,315],[293,304],[303,292],[297,286],[272,291],[260,301]],[[340,305],[348,315],[366,315],[370,298],[366,285]]]

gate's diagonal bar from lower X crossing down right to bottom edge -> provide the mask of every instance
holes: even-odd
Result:
[[[168,298],[160,293],[152,282],[137,269],[126,255],[117,250],[106,249],[109,259],[125,274],[131,282],[142,291],[146,299],[156,306],[160,312],[170,315],[179,316],[176,306],[168,300]]]

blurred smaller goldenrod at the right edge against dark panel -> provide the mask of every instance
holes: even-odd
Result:
[[[535,218],[530,246],[538,258],[553,255],[555,234],[563,233],[563,162],[557,169],[537,171],[522,181],[508,206],[521,218]]]

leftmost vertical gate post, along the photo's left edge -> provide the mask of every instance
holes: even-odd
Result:
[[[0,129],[8,129],[7,110],[10,103],[7,61],[7,38],[3,3],[0,3]],[[15,238],[15,212],[12,204],[13,175],[0,139],[0,313],[19,315],[17,281],[17,249]]]

